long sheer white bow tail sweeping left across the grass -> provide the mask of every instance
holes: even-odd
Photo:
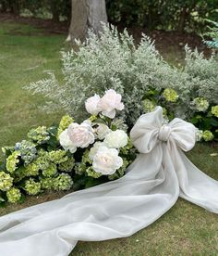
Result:
[[[168,211],[178,194],[173,162],[159,145],[119,180],[0,218],[0,255],[64,256],[78,240],[128,237]]]

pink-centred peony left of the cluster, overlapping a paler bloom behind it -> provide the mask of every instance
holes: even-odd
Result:
[[[71,123],[67,129],[67,134],[76,147],[84,148],[94,143],[93,129],[89,122]]]

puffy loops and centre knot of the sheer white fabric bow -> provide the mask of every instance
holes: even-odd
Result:
[[[157,107],[154,111],[141,115],[133,126],[130,137],[133,145],[140,153],[149,153],[156,145],[174,141],[177,147],[184,151],[195,146],[196,127],[181,119],[174,119],[167,125],[163,124],[163,109]]]

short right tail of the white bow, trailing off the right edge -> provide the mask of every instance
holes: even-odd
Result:
[[[174,146],[171,152],[178,177],[181,198],[218,213],[218,182],[202,173],[183,153]]]

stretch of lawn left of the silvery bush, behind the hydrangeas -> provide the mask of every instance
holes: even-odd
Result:
[[[44,70],[55,70],[60,76],[59,52],[64,40],[64,35],[44,36],[28,25],[1,24],[0,147],[14,144],[32,126],[50,125],[60,118],[61,113],[47,115],[39,109],[44,99],[30,96],[22,87],[46,77]]]

